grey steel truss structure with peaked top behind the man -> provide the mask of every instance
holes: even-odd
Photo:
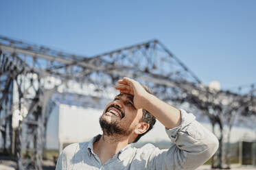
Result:
[[[107,97],[106,89],[113,88],[124,76],[146,84],[167,102],[187,103],[200,110],[209,117],[213,130],[216,124],[220,125],[220,130],[226,122],[232,126],[235,115],[248,117],[256,112],[252,92],[239,95],[202,85],[198,77],[159,40],[88,57],[0,36],[3,150],[16,156],[17,169],[42,169],[45,128],[54,105],[50,101],[58,88],[70,88],[69,82],[80,84],[81,88],[84,84],[93,84],[94,94]],[[18,92],[16,98],[14,91]],[[13,117],[19,120],[15,128]],[[222,136],[219,139],[222,143]],[[28,160],[31,149],[34,156]],[[221,153],[217,156],[218,165],[213,167],[222,167]]]

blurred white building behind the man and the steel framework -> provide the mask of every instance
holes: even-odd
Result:
[[[35,76],[31,75],[33,78],[36,78]],[[24,82],[29,82],[31,77],[21,78],[25,79]],[[45,87],[48,88],[53,88],[54,84],[61,84],[61,81],[56,80],[54,77],[47,77],[47,81],[45,80],[44,82]],[[29,84],[25,84],[25,86],[29,86]],[[52,110],[47,123],[47,149],[59,149],[61,151],[70,143],[89,141],[93,136],[102,133],[99,123],[100,115],[106,104],[114,98],[118,91],[113,88],[104,88],[102,95],[98,95],[96,88],[93,84],[81,85],[72,81],[67,82],[66,85],[61,84],[58,87],[58,93],[54,94],[52,98],[56,106]],[[14,104],[17,101],[15,89],[16,87],[14,86]],[[33,90],[31,95],[34,95]],[[27,110],[25,108],[23,110],[22,115],[25,117]],[[13,123],[18,122],[15,120],[21,118],[20,114],[14,114]],[[211,130],[209,123],[203,123],[203,125]],[[249,136],[252,140],[256,138],[253,130],[233,127],[231,142],[241,141],[245,136],[246,138]],[[169,145],[170,139],[165,134],[165,127],[159,121],[156,121],[154,128],[139,141],[139,143],[144,142],[154,144],[164,142]]]

